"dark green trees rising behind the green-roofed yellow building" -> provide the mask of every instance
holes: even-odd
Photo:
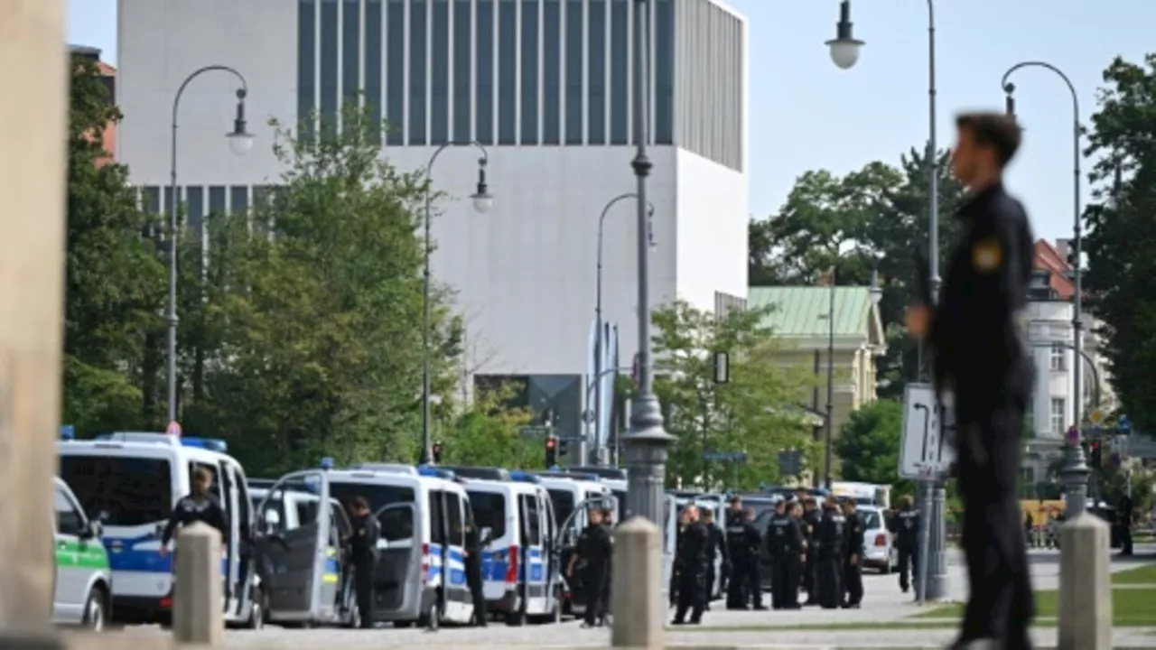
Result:
[[[941,256],[955,241],[958,227],[950,215],[963,197],[948,158],[948,153],[940,153],[936,167]],[[839,285],[867,286],[877,264],[888,344],[887,355],[879,360],[881,397],[902,398],[905,383],[919,374],[917,344],[902,322],[914,297],[914,251],[924,249],[929,237],[929,168],[928,157],[912,149],[901,156],[898,168],[873,162],[843,177],[808,171],[798,178],[778,214],[750,222],[753,286],[812,285],[832,265]]]

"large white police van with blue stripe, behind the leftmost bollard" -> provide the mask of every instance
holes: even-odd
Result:
[[[223,441],[116,433],[92,441],[61,440],[57,450],[60,478],[84,514],[104,524],[114,620],[165,622],[171,616],[172,554],[161,555],[161,537],[173,505],[192,492],[198,468],[213,474],[214,494],[229,526],[222,560],[228,578],[224,620],[253,619],[253,567],[242,553],[252,541],[252,504],[245,472],[228,456]]]

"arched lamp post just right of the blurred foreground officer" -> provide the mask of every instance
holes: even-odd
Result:
[[[1073,268],[1074,293],[1072,294],[1072,349],[1075,350],[1075,357],[1079,360],[1083,356],[1083,273],[1081,272],[1080,260],[1083,252],[1083,228],[1080,223],[1080,95],[1076,93],[1075,86],[1072,84],[1072,80],[1060,68],[1045,61],[1022,61],[1008,68],[1000,81],[1000,86],[1006,94],[1007,113],[1009,116],[1015,117],[1015,84],[1009,80],[1016,71],[1027,67],[1045,68],[1055,73],[1057,76],[1064,80],[1064,83],[1068,87],[1068,93],[1072,94],[1072,232],[1074,235],[1072,245],[1075,253],[1075,265]],[[1080,423],[1082,421],[1081,411],[1083,406],[1083,393],[1081,392],[1083,368],[1079,367],[1079,362],[1076,365],[1076,371],[1072,374],[1072,421],[1076,435],[1074,441],[1067,441],[1068,449],[1065,451],[1064,470],[1060,472],[1068,488],[1067,512],[1069,517],[1080,514],[1084,509],[1089,472],[1083,446],[1080,444],[1082,437],[1080,434]]]

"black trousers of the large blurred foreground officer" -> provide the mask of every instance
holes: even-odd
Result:
[[[1016,497],[1030,385],[999,377],[994,390],[972,384],[956,391],[962,542],[971,588],[961,641],[996,638],[1006,649],[1030,648],[1035,603]]]

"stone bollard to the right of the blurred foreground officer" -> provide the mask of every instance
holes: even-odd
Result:
[[[1109,527],[1080,512],[1060,531],[1059,650],[1112,648],[1112,584]]]

